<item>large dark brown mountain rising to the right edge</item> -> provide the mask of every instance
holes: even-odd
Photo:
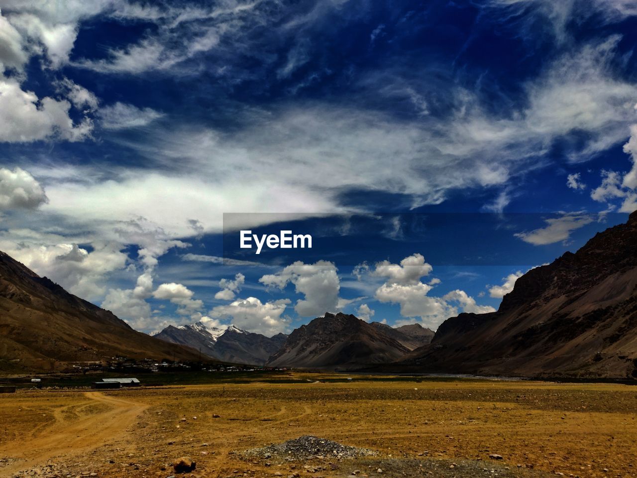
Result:
[[[397,370],[637,377],[637,212],[515,282],[497,312],[441,324]]]

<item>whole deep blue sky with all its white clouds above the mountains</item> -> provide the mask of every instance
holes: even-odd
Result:
[[[147,333],[492,312],[637,209],[636,42],[633,0],[0,0],[0,250]]]

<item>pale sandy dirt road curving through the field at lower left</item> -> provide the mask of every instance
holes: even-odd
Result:
[[[9,442],[0,447],[0,456],[12,458],[0,468],[0,476],[26,468],[45,465],[48,460],[68,460],[95,449],[122,435],[149,405],[106,396],[99,392],[84,394],[88,403],[101,403],[109,408],[105,412],[90,414],[68,423],[61,410],[54,412],[55,423],[39,431],[35,437]]]

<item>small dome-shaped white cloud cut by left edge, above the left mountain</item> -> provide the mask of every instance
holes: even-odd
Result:
[[[0,210],[11,208],[34,209],[47,203],[47,194],[28,171],[0,168]]]

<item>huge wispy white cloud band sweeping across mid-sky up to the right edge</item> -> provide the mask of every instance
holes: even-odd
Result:
[[[158,122],[117,138],[142,155],[147,168],[118,168],[92,182],[78,180],[68,168],[69,177],[47,184],[47,207],[71,221],[143,215],[180,237],[192,234],[185,218],[201,221],[205,232],[220,231],[227,210],[344,212],[344,189],[404,194],[419,206],[440,203],[450,191],[502,185],[546,164],[543,154],[573,131],[592,138],[573,147],[573,161],[625,138],[637,87],[613,78],[607,66],[616,41],[555,59],[524,85],[524,109],[506,118],[487,113],[472,92],[456,89],[454,108],[442,121],[396,122],[354,105],[308,103],[251,111],[242,118],[244,127],[229,134]],[[506,201],[505,191],[494,208]],[[168,209],[174,214],[165,214]]]

